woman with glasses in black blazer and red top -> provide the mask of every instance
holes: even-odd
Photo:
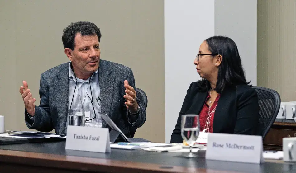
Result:
[[[204,132],[255,135],[257,92],[246,82],[235,42],[224,36],[206,39],[194,64],[203,79],[189,86],[170,142],[183,142],[180,124],[184,114],[199,115]]]

